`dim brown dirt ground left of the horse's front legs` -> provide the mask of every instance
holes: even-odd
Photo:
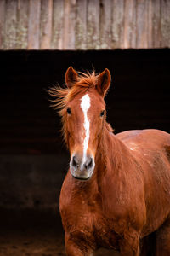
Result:
[[[20,230],[4,232],[0,239],[1,256],[65,255],[62,236],[50,230]]]

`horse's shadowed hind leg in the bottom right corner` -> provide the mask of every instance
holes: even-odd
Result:
[[[156,231],[156,256],[170,255],[170,219]]]

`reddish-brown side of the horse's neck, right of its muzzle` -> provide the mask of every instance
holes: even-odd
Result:
[[[105,125],[96,155],[95,175],[101,205],[108,214],[112,214],[114,207],[119,212],[120,206],[130,198],[134,168],[131,151]]]

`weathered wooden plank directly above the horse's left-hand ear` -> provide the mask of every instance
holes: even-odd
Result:
[[[63,49],[75,49],[76,0],[65,0]]]

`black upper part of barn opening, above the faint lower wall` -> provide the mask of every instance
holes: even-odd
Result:
[[[65,147],[49,87],[65,83],[69,66],[112,75],[105,98],[116,133],[156,128],[170,131],[170,50],[0,52],[0,153],[58,154]],[[61,149],[62,148],[62,149]],[[63,151],[64,152],[64,151]]]

